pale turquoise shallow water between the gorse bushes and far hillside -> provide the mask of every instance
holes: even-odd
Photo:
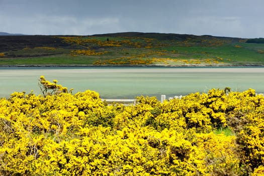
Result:
[[[0,97],[13,92],[40,94],[38,79],[58,80],[73,93],[93,90],[102,98],[167,97],[207,92],[255,89],[264,93],[264,68],[184,67],[0,67]]]

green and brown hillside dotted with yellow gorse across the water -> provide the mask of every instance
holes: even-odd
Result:
[[[0,36],[0,65],[264,64],[264,44],[247,39],[159,33]]]

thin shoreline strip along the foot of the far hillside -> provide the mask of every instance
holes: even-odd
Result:
[[[34,64],[34,65],[0,65],[0,67],[264,67],[263,64],[151,64],[151,65],[47,65],[47,64]]]

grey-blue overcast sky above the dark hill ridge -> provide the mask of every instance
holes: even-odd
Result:
[[[263,0],[0,0],[0,32],[264,37]]]

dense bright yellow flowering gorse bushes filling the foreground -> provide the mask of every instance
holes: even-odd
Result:
[[[40,77],[0,100],[2,175],[263,175],[264,97],[210,90],[107,106]]]

